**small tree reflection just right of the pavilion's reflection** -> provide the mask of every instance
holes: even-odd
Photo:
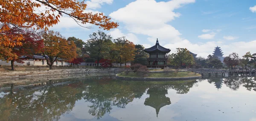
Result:
[[[189,92],[189,89],[192,88],[194,84],[196,84],[196,81],[186,82],[183,84],[173,84],[169,86],[170,88],[176,90],[178,94],[186,94]]]

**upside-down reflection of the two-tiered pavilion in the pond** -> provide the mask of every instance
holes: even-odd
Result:
[[[165,87],[150,87],[147,94],[149,97],[144,104],[156,109],[157,116],[161,107],[171,104],[170,98],[166,97],[168,92]]]

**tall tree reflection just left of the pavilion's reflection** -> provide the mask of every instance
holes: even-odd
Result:
[[[136,96],[134,89],[140,88],[145,92],[146,87],[139,87],[134,84],[113,81],[111,84],[103,84],[94,81],[90,84],[84,95],[87,102],[91,102],[89,113],[97,119],[101,118],[105,113],[110,113],[112,106],[125,108],[125,106],[133,101]]]

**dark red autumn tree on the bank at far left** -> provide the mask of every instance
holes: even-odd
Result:
[[[43,48],[43,41],[38,36],[37,32],[33,30],[28,29],[18,29],[15,27],[12,27],[9,31],[6,31],[4,33],[5,35],[9,36],[20,34],[23,36],[22,42],[23,45],[15,45],[15,46],[6,46],[1,44],[0,50],[4,51],[3,54],[0,54],[3,56],[2,60],[5,60],[6,62],[11,61],[12,70],[15,70],[14,62],[18,63],[24,63],[23,59],[25,58],[32,58],[32,55],[35,53],[38,53],[41,48]],[[13,42],[17,42],[15,40],[17,38],[12,38]],[[23,58],[20,58],[23,56]]]

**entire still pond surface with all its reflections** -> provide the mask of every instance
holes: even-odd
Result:
[[[256,121],[256,81],[94,77],[2,88],[0,121]]]

